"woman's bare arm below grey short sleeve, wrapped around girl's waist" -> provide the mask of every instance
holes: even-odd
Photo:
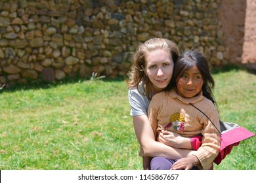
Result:
[[[192,150],[173,148],[155,141],[153,129],[146,115],[133,116],[133,126],[145,156],[163,156],[165,158],[178,159],[191,156],[195,152]]]

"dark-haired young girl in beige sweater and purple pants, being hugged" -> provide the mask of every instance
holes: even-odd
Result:
[[[186,158],[155,157],[151,169],[211,169],[221,144],[219,114],[213,98],[215,82],[200,52],[187,51],[178,58],[171,86],[175,87],[154,95],[148,107],[156,139],[167,129],[183,137],[202,135],[202,145]]]

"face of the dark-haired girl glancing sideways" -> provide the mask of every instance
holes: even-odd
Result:
[[[203,77],[196,65],[184,71],[177,80],[177,94],[184,98],[191,98],[202,90]]]

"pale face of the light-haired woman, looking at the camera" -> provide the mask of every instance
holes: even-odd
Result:
[[[144,71],[152,82],[152,94],[161,92],[173,76],[173,59],[170,52],[158,49],[147,54]]]

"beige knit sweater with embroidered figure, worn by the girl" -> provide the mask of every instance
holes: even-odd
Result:
[[[200,112],[200,108],[215,126],[219,126],[219,114],[213,103],[202,95],[193,98],[183,98],[171,90],[154,95],[148,107],[148,118],[156,139],[161,129],[179,133],[183,137],[193,137],[202,134],[202,146],[194,154],[200,161],[200,169],[210,169],[213,160],[219,154],[220,134],[208,118]],[[167,128],[165,128],[167,127]]]

